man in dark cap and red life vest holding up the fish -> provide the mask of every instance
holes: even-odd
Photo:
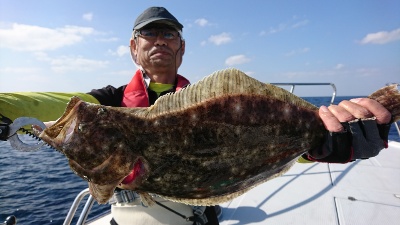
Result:
[[[165,8],[148,8],[136,19],[130,40],[132,58],[139,67],[130,83],[119,88],[107,86],[102,89],[92,90],[87,94],[47,93],[43,95],[41,93],[26,93],[29,96],[0,95],[0,113],[11,119],[20,116],[33,116],[42,121],[48,121],[62,114],[65,103],[68,102],[72,95],[78,95],[85,101],[108,106],[150,106],[159,96],[179,91],[189,84],[186,78],[177,73],[185,53],[182,28],[183,25]],[[45,114],[43,112],[46,112],[49,107],[52,107],[53,118],[50,118],[47,114],[43,115]],[[355,135],[349,135],[348,129],[345,130],[343,126],[345,122],[355,118],[376,117],[376,120],[373,121],[373,126],[363,127],[362,129],[365,132],[371,132],[372,130],[372,133],[378,130],[375,134],[376,142],[378,142],[377,146],[379,146],[378,151],[384,148],[384,141],[387,140],[387,130],[389,129],[386,124],[391,121],[391,115],[378,102],[367,98],[342,101],[337,106],[322,106],[319,110],[319,115],[331,135],[327,137],[324,146],[317,150],[310,150],[308,154],[303,156],[304,159],[341,163],[356,159],[352,158],[352,142],[343,141],[345,139],[343,135],[350,139],[352,135]],[[361,149],[363,151],[363,148]],[[367,157],[372,156],[367,154]],[[127,176],[121,187],[129,185],[131,181],[132,178]],[[166,211],[167,209],[150,209],[140,205],[139,207],[136,203],[139,202],[140,204],[140,200],[137,201],[135,193],[130,191],[117,190],[115,200],[118,203],[112,205],[112,212],[115,217],[113,224],[122,224],[123,219],[121,218],[126,218],[127,213],[131,215],[130,218],[135,218],[135,224],[193,223],[182,220],[182,218],[174,215],[173,212]],[[216,209],[214,207],[193,207],[192,211],[192,208],[182,204],[169,202],[165,204],[178,213],[184,211],[185,213],[190,212],[198,215],[196,217],[197,224],[207,221],[207,224],[210,225],[218,224],[216,218],[216,209],[219,209],[218,207]],[[131,206],[134,210],[126,210],[124,206]],[[163,213],[165,212],[169,216],[160,216],[161,214],[164,215]]]

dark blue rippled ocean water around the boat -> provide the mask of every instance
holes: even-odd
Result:
[[[305,99],[317,106],[330,102],[330,97]],[[336,97],[335,103],[343,99],[350,97]],[[394,125],[389,139],[400,141]],[[0,222],[15,215],[18,224],[62,224],[76,195],[85,188],[87,182],[76,176],[65,157],[54,149],[21,152],[0,141]],[[83,204],[71,224],[76,223],[82,208]],[[107,210],[108,205],[94,203],[89,218]]]

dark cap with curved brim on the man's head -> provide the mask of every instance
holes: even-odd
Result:
[[[183,25],[164,7],[150,7],[138,16],[133,26],[134,30],[138,30],[152,22],[166,22],[167,24],[176,26],[178,30],[182,30]]]

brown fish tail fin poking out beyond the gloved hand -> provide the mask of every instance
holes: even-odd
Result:
[[[391,114],[393,122],[400,120],[400,92],[398,84],[392,84],[372,93],[368,98],[381,103]]]

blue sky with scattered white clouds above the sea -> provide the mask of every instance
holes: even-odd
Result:
[[[132,27],[150,6],[184,25],[179,74],[192,83],[231,67],[267,83],[334,83],[338,96],[400,83],[399,0],[0,0],[0,92],[127,84]]]

